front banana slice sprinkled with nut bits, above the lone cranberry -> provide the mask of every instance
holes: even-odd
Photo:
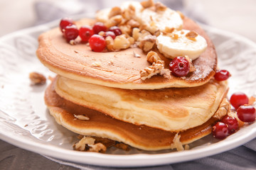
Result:
[[[165,57],[174,59],[187,55],[191,60],[195,60],[206,50],[207,42],[191,30],[176,30],[169,35],[159,35],[156,38],[156,45]]]

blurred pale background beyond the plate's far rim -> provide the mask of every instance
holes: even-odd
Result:
[[[0,0],[0,37],[64,16],[95,13],[123,0]],[[255,0],[162,0],[170,8],[215,28],[243,35],[256,42]]]

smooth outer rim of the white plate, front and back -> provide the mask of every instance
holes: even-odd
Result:
[[[82,17],[85,17],[84,15],[81,15]],[[75,18],[82,18],[81,16],[76,16]],[[50,23],[45,23],[40,26],[34,26],[31,28],[25,28],[22,30],[18,30],[14,33],[9,33],[8,35],[4,35],[0,38],[0,43],[2,43],[4,40],[14,37],[17,34],[29,34],[31,31],[34,30],[46,30],[46,28],[53,28],[58,23],[58,20],[51,21]],[[207,26],[204,24],[200,24],[204,30],[210,30],[211,33],[226,35],[228,37],[235,37],[239,40],[250,44],[256,48],[255,42],[252,40],[243,37],[242,35],[238,35],[236,33],[230,33],[225,30],[220,30],[218,28],[213,28],[212,26]],[[4,113],[0,110],[0,113]],[[6,113],[8,115],[8,113]],[[3,130],[0,130],[0,139],[4,140],[5,142],[9,142],[12,145],[15,145],[17,147],[21,147],[23,149],[27,149],[31,152],[36,152],[38,154],[45,154],[49,157],[54,157],[55,159],[62,159],[68,162],[75,162],[78,164],[92,164],[97,166],[112,166],[112,167],[138,167],[138,166],[156,166],[156,165],[163,165],[163,164],[172,164],[172,163],[178,163],[178,162],[186,162],[188,160],[193,159],[200,159],[202,157],[208,157],[213,154],[218,154],[223,152],[223,148],[225,148],[224,151],[228,151],[230,149],[233,149],[235,147],[239,147],[240,145],[245,144],[246,142],[249,142],[250,140],[254,139],[256,137],[256,126],[250,130],[250,132],[247,132],[245,137],[242,138],[242,140],[239,140],[238,138],[235,140],[232,140],[232,142],[225,142],[225,140],[220,141],[222,142],[222,147],[218,147],[218,143],[209,145],[208,147],[203,148],[196,148],[191,149],[183,152],[171,152],[171,153],[164,153],[164,154],[129,154],[129,155],[121,155],[121,154],[100,154],[95,152],[77,152],[73,150],[63,149],[61,147],[48,145],[48,143],[41,143],[41,142],[35,142],[32,140],[27,140],[23,138],[16,139],[15,137],[2,133]],[[55,152],[53,154],[53,151],[55,149]],[[58,152],[56,152],[58,151]],[[51,155],[50,153],[51,152]],[[185,153],[185,155],[184,155]],[[196,155],[195,155],[196,154]],[[63,156],[63,157],[60,157]],[[68,157],[67,157],[68,156]],[[107,157],[106,157],[107,156]],[[191,158],[193,156],[193,158]],[[75,159],[76,157],[83,157],[85,158],[85,162],[80,162],[80,160]],[[171,159],[171,158],[176,159]],[[181,160],[177,160],[177,158],[181,158]],[[96,161],[94,159],[101,159],[100,162]],[[113,159],[115,163],[113,164]],[[127,162],[127,159],[129,159],[129,162],[127,164],[124,164],[124,161]],[[145,162],[146,161],[146,164]],[[131,164],[131,162],[133,162]]]

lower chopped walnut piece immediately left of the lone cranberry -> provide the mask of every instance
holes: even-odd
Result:
[[[156,74],[159,74],[164,69],[164,61],[157,60],[151,66],[142,69],[139,73],[142,80],[149,79]]]

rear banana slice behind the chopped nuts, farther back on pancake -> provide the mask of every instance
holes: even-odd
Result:
[[[137,21],[150,33],[155,33],[156,30],[163,32],[166,28],[181,30],[183,26],[181,16],[170,8],[166,8],[165,11],[152,11],[151,8],[145,8],[136,14]]]

